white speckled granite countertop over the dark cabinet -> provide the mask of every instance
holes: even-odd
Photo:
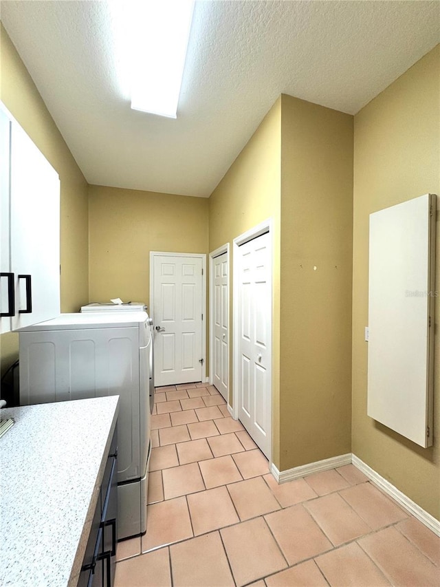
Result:
[[[78,582],[118,396],[1,410],[0,585]]]

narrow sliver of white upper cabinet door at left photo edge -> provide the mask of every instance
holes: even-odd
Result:
[[[0,109],[0,312],[8,314],[10,303],[9,279],[10,257],[9,257],[9,142],[10,142],[10,119]],[[10,330],[10,317],[0,317],[0,332]]]

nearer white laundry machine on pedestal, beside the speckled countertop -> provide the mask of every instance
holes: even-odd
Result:
[[[154,405],[146,312],[85,312],[19,330],[20,403],[120,396],[118,539],[146,531]]]

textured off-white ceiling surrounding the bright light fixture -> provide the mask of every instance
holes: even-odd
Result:
[[[89,183],[201,197],[281,93],[355,114],[440,41],[438,1],[200,1],[173,120],[130,109],[107,2],[0,6]]]

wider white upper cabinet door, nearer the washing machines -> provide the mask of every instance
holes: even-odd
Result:
[[[60,180],[14,120],[10,153],[10,257],[16,306],[11,325],[16,330],[60,313]]]

